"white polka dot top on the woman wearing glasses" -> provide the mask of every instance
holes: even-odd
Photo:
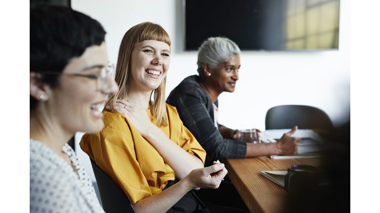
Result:
[[[30,139],[30,213],[104,213],[74,150],[66,143],[62,151],[72,167],[45,144]]]

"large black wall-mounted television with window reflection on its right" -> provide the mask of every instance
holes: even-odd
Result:
[[[241,50],[337,50],[339,0],[183,0],[185,50],[211,36]]]

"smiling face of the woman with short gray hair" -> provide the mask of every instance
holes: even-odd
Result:
[[[239,79],[240,57],[234,55],[211,72],[210,84],[218,92],[234,92]]]

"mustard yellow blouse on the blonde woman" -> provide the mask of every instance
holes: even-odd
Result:
[[[168,126],[159,128],[165,135],[191,155],[198,155],[204,163],[206,152],[183,125],[176,107],[166,105]],[[172,168],[122,114],[104,111],[104,128],[95,134],[85,134],[80,146],[91,159],[128,196],[131,203],[155,195],[174,180]],[[150,121],[156,124],[146,110]]]

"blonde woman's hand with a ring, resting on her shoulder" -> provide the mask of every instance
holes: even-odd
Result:
[[[136,130],[145,137],[147,132],[156,126],[149,120],[148,114],[138,104],[123,99],[116,100],[115,110],[124,115]]]

